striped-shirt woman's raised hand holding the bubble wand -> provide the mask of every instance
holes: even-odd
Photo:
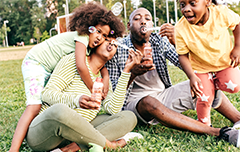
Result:
[[[136,65],[141,63],[141,60],[143,58],[143,54],[139,51],[136,50],[136,52],[133,49],[129,49],[129,55],[128,55],[128,59],[125,63],[125,68],[124,68],[124,72],[129,73],[131,71],[132,68],[134,68]]]

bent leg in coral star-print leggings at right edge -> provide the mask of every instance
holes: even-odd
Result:
[[[240,71],[238,67],[227,68],[216,72],[216,79],[214,80],[216,88],[220,90],[237,93],[240,91]]]

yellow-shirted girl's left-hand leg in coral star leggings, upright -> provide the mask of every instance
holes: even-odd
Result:
[[[204,124],[211,125],[210,110],[214,99],[215,86],[212,80],[211,73],[196,73],[196,75],[201,79],[203,88],[201,97],[197,99],[196,109],[198,120]]]

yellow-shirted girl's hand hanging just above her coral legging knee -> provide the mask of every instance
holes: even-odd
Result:
[[[190,86],[191,86],[191,91],[197,96],[201,97],[202,91],[199,89],[203,88],[201,80],[196,76],[192,76],[190,78]]]

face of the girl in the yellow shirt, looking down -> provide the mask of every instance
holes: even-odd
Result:
[[[202,26],[209,18],[210,0],[179,0],[183,16],[190,24]]]

